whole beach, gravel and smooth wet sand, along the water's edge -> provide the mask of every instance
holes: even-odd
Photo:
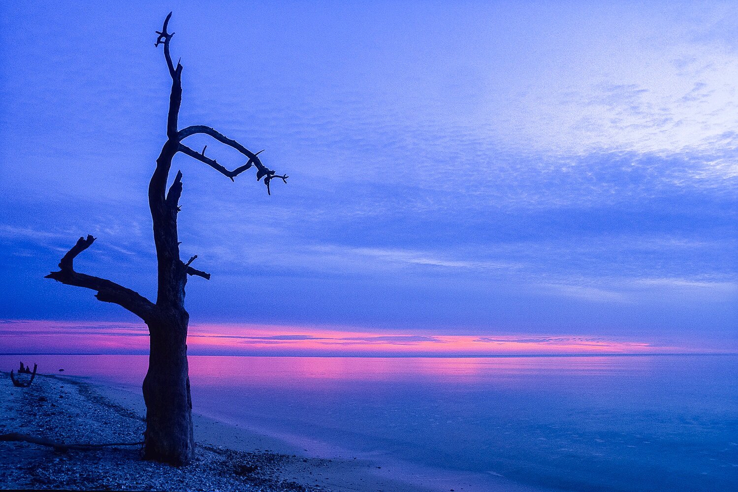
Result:
[[[64,443],[135,443],[145,428],[140,394],[74,377],[38,375],[30,388],[0,385],[0,434]],[[285,440],[194,414],[197,458],[174,468],[139,457],[139,446],[58,452],[0,443],[0,488],[147,491],[533,491],[497,477],[459,476],[336,450],[308,453]],[[348,453],[348,451],[345,451]]]

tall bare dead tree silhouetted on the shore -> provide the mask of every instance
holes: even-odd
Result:
[[[266,184],[267,193],[270,182],[279,178],[286,182],[287,176],[279,176],[261,163],[258,154],[249,151],[241,143],[231,140],[210,126],[195,125],[179,129],[179,106],[182,103],[182,64],[176,66],[170,55],[170,42],[174,33],[168,32],[169,13],[164,27],[156,34],[155,46],[164,46],[164,58],[172,89],[169,96],[167,117],[167,141],[156,159],[156,168],[148,186],[148,204],[154,222],[154,244],[158,265],[158,288],[156,302],[127,289],[120,284],[95,276],[78,273],[74,259],[86,250],[95,238],[80,237],[77,244],[66,253],[59,263],[60,270],[46,278],[63,284],[86,287],[96,290],[95,297],[100,301],[119,304],[139,316],[148,326],[151,340],[148,372],[143,381],[143,396],[146,403],[146,432],[144,456],[174,465],[190,461],[194,455],[192,424],[192,402],[190,400],[190,378],[187,372],[187,324],[189,314],[184,309],[184,286],[187,276],[210,279],[210,274],[196,270],[192,262],[179,258],[179,239],[177,237],[177,213],[179,197],[182,195],[182,171],[178,171],[169,191],[166,190],[173,157],[182,153],[209,165],[224,174],[231,181],[242,172],[256,168],[256,179]],[[246,163],[229,171],[217,160],[205,156],[205,149],[194,151],[183,142],[194,134],[206,134],[218,142],[235,148],[246,157]]]

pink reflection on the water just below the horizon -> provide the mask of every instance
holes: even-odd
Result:
[[[474,384],[508,381],[520,375],[602,375],[647,369],[651,358],[512,357],[512,358],[328,358],[190,356],[193,386],[264,386],[283,389],[334,383],[418,382]],[[87,377],[119,386],[140,387],[148,367],[145,355],[0,355],[0,369],[38,363],[42,374]],[[58,369],[64,369],[59,372]],[[517,381],[517,382],[516,382]]]

